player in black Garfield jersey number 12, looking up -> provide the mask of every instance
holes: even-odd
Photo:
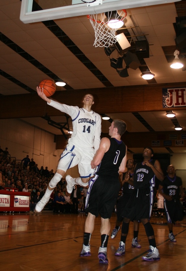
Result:
[[[149,252],[142,259],[146,261],[160,260],[159,251],[156,248],[156,242],[154,237],[154,230],[150,224],[150,215],[153,206],[155,177],[158,180],[163,180],[163,172],[158,160],[153,160],[152,148],[144,148],[143,161],[137,163],[134,167],[134,192],[130,197],[126,208],[124,210],[124,220],[122,226],[123,242],[118,248],[125,252],[125,241],[129,231],[130,220],[140,220],[145,227],[145,232],[149,241]],[[126,179],[129,179],[129,174],[125,175]]]

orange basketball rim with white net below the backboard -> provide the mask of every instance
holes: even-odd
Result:
[[[109,47],[116,43],[116,30],[123,26],[126,9],[87,15],[95,31],[95,47]]]

